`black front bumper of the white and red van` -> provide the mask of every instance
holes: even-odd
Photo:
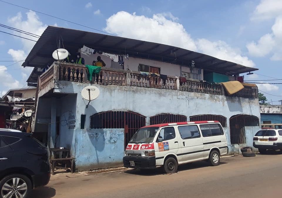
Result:
[[[130,161],[133,161],[135,166],[130,166]],[[124,156],[123,166],[126,168],[153,169],[156,168],[156,157]]]

